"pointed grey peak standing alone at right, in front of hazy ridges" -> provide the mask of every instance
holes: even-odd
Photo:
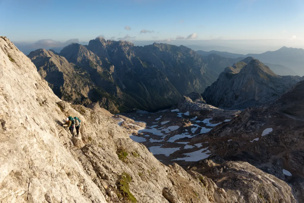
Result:
[[[225,68],[216,82],[202,93],[206,103],[221,108],[244,109],[273,101],[302,80],[299,76],[276,75],[259,60],[251,59]]]

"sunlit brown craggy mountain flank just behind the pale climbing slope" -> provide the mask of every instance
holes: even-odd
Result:
[[[79,45],[79,47],[83,46]],[[89,51],[83,54],[87,56],[88,61],[85,61],[82,67],[79,66],[78,61],[69,63],[64,57],[51,50],[38,49],[32,51],[28,57],[59,98],[74,104],[88,105],[95,102],[113,113],[119,112],[117,107],[124,108],[115,97],[121,96],[120,90],[116,89],[115,85],[113,88],[113,82],[106,80],[102,75],[107,70],[101,68],[102,62],[97,56]],[[77,58],[82,60],[81,56]],[[106,89],[103,89],[104,87]]]

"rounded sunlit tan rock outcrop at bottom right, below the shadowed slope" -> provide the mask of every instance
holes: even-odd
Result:
[[[202,170],[202,164],[196,166]],[[234,202],[297,202],[288,184],[247,162],[227,161],[219,166],[207,166],[203,173],[223,188],[225,195],[236,197]]]

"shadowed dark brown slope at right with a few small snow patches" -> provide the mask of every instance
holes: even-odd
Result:
[[[210,157],[214,162],[221,164],[225,160],[247,161],[288,182],[292,185],[292,192],[298,202],[303,202],[303,98],[304,81],[301,81],[275,102],[247,108],[238,117],[216,126],[209,133],[194,138],[192,142],[208,142],[203,147],[208,146],[214,154]],[[221,157],[216,157],[216,154]],[[194,166],[202,172],[208,170],[207,163],[205,161]],[[219,181],[218,186],[222,187],[227,183],[221,181],[223,176],[220,174],[214,175],[213,180],[216,183]]]

